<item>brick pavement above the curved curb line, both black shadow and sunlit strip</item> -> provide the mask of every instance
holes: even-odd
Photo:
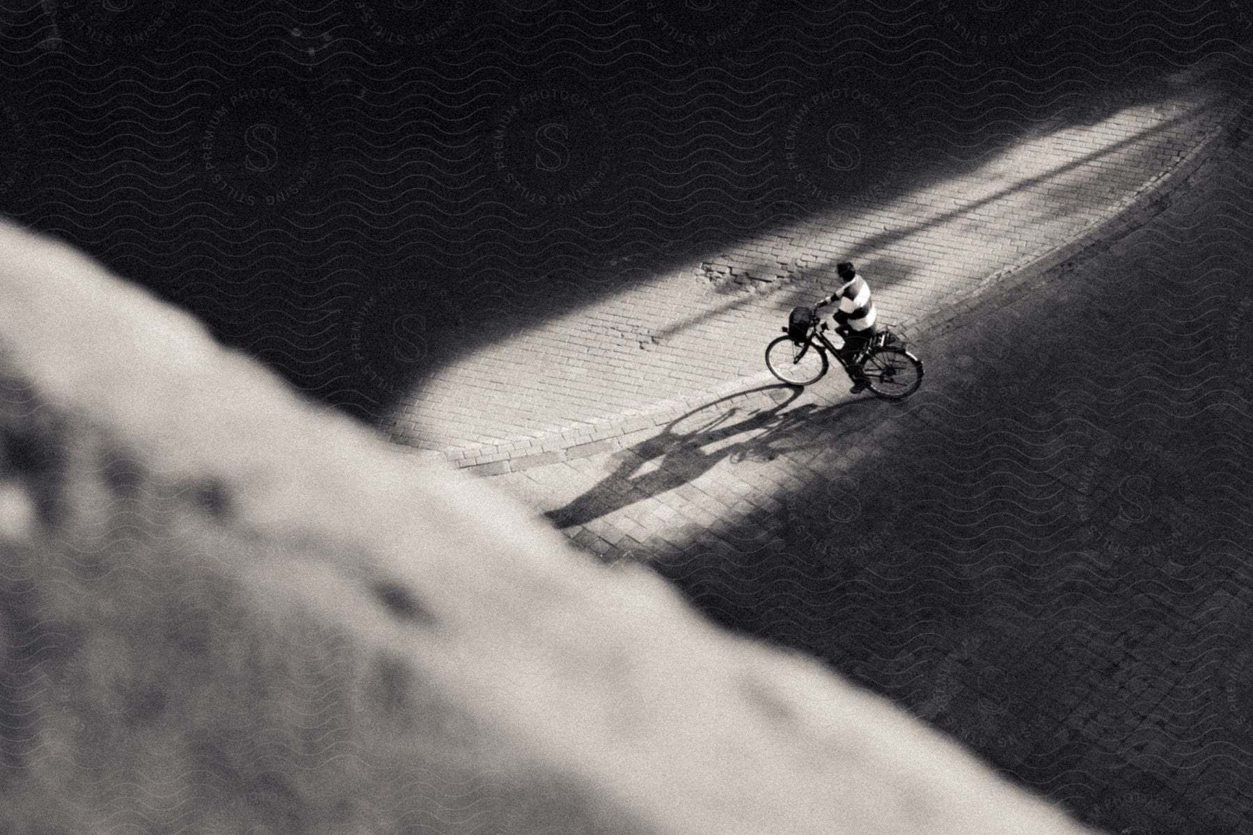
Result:
[[[1091,232],[1253,39],[1233,0],[80,5],[0,9],[0,212],[489,464],[756,374],[832,259],[916,318]]]

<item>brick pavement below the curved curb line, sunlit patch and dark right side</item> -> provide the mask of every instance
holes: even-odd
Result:
[[[1253,140],[917,343],[492,478],[1113,832],[1253,830]]]

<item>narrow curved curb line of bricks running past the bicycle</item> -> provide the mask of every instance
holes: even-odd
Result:
[[[1030,263],[987,275],[980,282],[977,289],[964,300],[907,320],[905,324],[908,327],[911,337],[916,341],[918,336],[935,336],[946,332],[969,310],[986,303],[989,292],[994,289],[1004,292],[1015,287],[1037,285],[1063,275],[1163,212],[1169,205],[1175,190],[1187,185],[1189,178],[1210,160],[1218,149],[1227,144],[1225,140],[1253,113],[1253,96],[1220,96],[1217,109],[1223,116],[1218,119],[1205,138],[1182,156],[1175,156],[1169,168],[1145,180],[1139,189],[1124,198],[1115,210],[1099,218],[1069,240],[1039,253]],[[922,353],[925,359],[925,349]],[[838,369],[833,371],[838,374]],[[447,458],[457,467],[471,468],[482,476],[520,472],[531,467],[621,449],[657,428],[698,409],[710,409],[712,407],[713,412],[710,413],[717,413],[742,407],[747,402],[763,402],[771,397],[771,393],[746,389],[761,389],[777,383],[778,381],[768,371],[763,371],[752,377],[727,381],[699,396],[682,401],[662,401],[642,413],[620,414],[603,423],[579,424],[538,438],[504,444],[482,444],[442,452],[415,448],[412,452],[417,456]],[[843,397],[843,389],[837,391],[841,393],[834,394],[831,399]],[[712,406],[712,401],[717,402],[717,406]]]

